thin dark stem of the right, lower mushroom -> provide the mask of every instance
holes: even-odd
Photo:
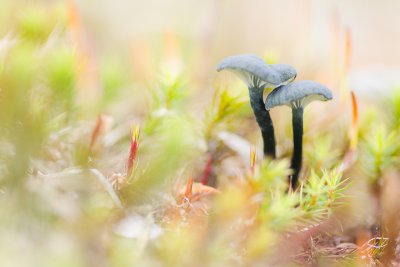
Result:
[[[302,151],[303,151],[303,107],[292,108],[292,125],[293,125],[293,156],[291,168],[293,174],[289,176],[289,184],[291,188],[296,189],[301,170]]]

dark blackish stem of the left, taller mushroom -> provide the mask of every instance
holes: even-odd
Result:
[[[263,100],[264,88],[258,86],[249,87],[250,105],[258,126],[261,129],[261,135],[264,142],[264,155],[275,158],[275,134],[274,126],[269,111],[265,109]]]

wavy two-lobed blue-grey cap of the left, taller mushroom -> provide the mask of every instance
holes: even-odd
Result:
[[[287,64],[268,65],[260,57],[251,54],[230,56],[223,59],[217,71],[230,70],[237,74],[248,87],[276,88],[292,82],[297,75],[294,67]]]

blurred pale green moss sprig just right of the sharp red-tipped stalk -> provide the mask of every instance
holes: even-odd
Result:
[[[165,182],[176,182],[179,172],[199,151],[196,132],[185,116],[164,117],[151,140],[140,148],[140,158],[146,164],[138,166],[134,179],[121,192],[129,203],[151,197],[156,189],[168,189]]]

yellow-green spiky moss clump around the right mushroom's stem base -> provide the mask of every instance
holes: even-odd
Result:
[[[287,163],[270,163],[264,168],[261,179],[250,181],[253,184],[256,181],[255,185],[264,193],[260,215],[274,229],[279,226],[283,230],[303,219],[313,222],[327,219],[345,197],[346,180],[338,170],[322,171],[322,176],[312,172],[300,190],[285,194],[287,184],[282,181],[286,182]]]

